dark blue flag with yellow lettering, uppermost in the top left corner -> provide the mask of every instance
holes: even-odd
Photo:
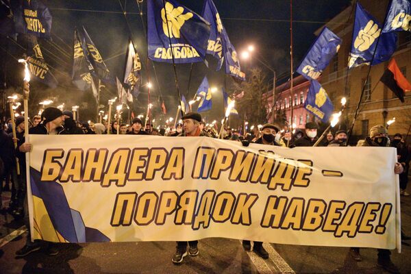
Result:
[[[16,6],[12,6],[12,10],[16,32],[19,34],[32,34],[39,38],[50,38],[53,18],[49,8],[41,1],[18,1]]]

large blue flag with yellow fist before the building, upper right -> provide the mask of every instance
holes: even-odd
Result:
[[[348,62],[350,69],[360,64],[370,64],[374,51],[376,52],[372,66],[391,58],[397,47],[397,35],[395,32],[382,33],[381,31],[382,28],[378,21],[366,12],[360,3],[357,3],[353,43]]]

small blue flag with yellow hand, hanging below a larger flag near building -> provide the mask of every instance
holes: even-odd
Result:
[[[311,80],[310,83],[304,108],[326,123],[334,111],[334,105],[319,82]]]

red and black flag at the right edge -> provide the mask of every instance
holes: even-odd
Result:
[[[406,77],[401,73],[397,66],[397,62],[393,58],[388,64],[388,67],[382,75],[380,81],[393,90],[401,102],[404,102],[404,92],[411,91],[411,84]]]

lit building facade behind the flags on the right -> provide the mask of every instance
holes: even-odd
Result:
[[[377,18],[381,24],[384,22],[388,2],[389,0],[360,0],[362,6]],[[360,104],[359,114],[353,127],[353,140],[364,138],[369,134],[369,129],[371,127],[379,124],[386,125],[387,121],[394,117],[395,123],[390,125],[388,129],[389,134],[392,136],[399,132],[405,135],[408,133],[411,125],[411,92],[405,94],[405,102],[401,103],[390,89],[382,84],[382,82],[379,82],[389,61],[371,66],[369,81],[366,86],[364,86],[364,83],[366,75],[369,73],[370,66],[362,65],[351,70],[347,69],[349,52],[351,51],[351,41],[353,39],[353,21],[355,18],[355,8],[353,7],[355,7],[354,3],[323,26],[328,27],[332,32],[342,38],[343,44],[336,57],[323,71],[319,82],[327,91],[336,110],[340,108],[341,99],[346,97],[347,108],[340,123],[340,127],[345,127],[346,129],[349,129],[351,126],[354,114],[356,113],[358,101],[360,100],[362,88],[364,88],[364,96],[362,98],[362,103]],[[323,27],[316,31],[315,34],[317,36],[320,34]],[[411,33],[398,32],[397,34],[397,51],[395,51],[393,58],[397,61],[399,69],[408,79],[408,82],[411,82]],[[299,77],[296,77],[295,81],[299,81]],[[309,85],[308,81],[303,84],[295,83],[295,94],[299,95],[300,92],[305,92],[306,94]],[[279,92],[277,93],[277,105],[279,105],[280,108],[284,105],[284,99],[289,98],[290,94],[289,84],[288,90],[286,86],[284,86],[284,88],[283,86],[284,85],[279,86],[275,90],[276,92]],[[283,92],[284,96],[282,96]],[[272,95],[268,101],[272,101]],[[299,109],[299,105],[295,106],[295,110]],[[301,110],[296,112],[297,119],[294,120],[294,123],[295,121],[299,122],[299,115],[301,115],[301,113],[304,112]],[[289,119],[288,114],[287,119]],[[307,119],[303,119],[304,123],[306,121]],[[296,125],[297,127],[301,127],[299,123],[296,123]]]

